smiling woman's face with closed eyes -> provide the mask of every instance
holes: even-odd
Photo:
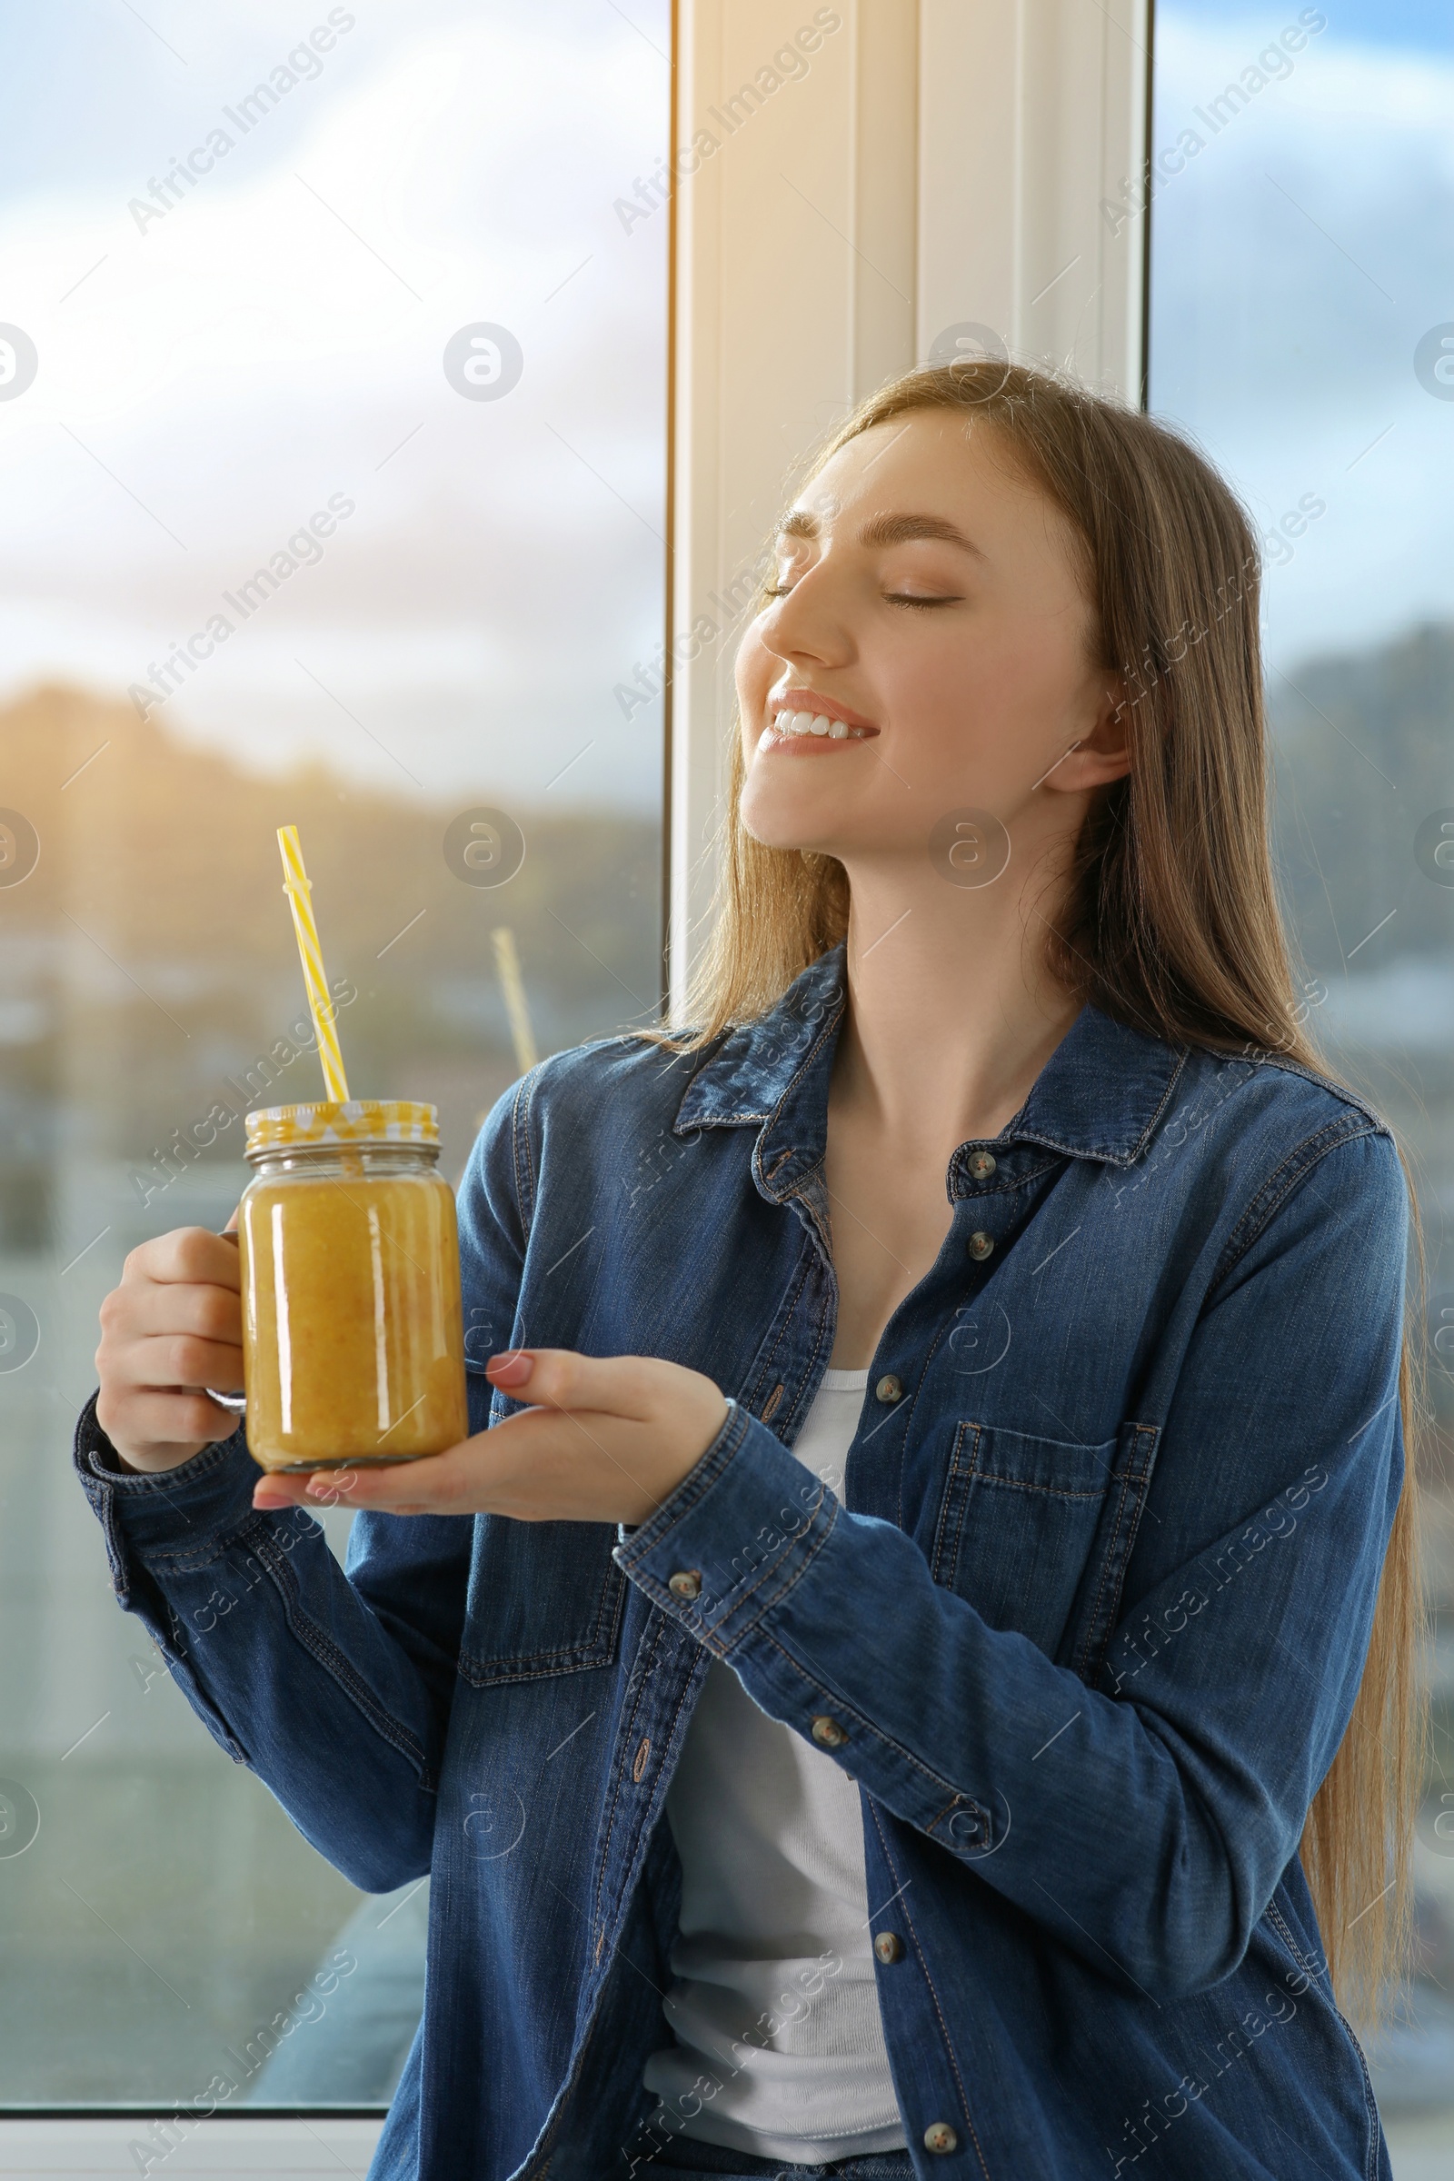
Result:
[[[776,848],[922,855],[972,807],[1033,851],[1127,770],[1068,523],[946,410],[863,432],[800,493],[737,691],[741,816]]]

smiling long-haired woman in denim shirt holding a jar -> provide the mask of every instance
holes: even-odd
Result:
[[[434,1878],[375,2177],[1389,2174],[1334,1993],[1406,1884],[1408,1204],[1295,1027],[1247,521],[918,371],[737,678],[695,1027],[475,1145],[477,1435],[259,1481],[235,1252],[161,1237],[78,1435],[118,1596]]]

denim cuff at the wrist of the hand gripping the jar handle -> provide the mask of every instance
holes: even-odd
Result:
[[[203,1566],[257,1520],[253,1485],[262,1470],[242,1426],[174,1470],[122,1470],[96,1420],[92,1394],[76,1422],[74,1461],[81,1490],[102,1527],[111,1588],[122,1605],[131,1599],[137,1566]]]

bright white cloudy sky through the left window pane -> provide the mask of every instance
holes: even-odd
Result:
[[[661,619],[665,214],[613,205],[665,146],[665,20],[0,7],[0,321],[37,351],[0,399],[0,700],[157,689],[222,613],[177,733],[403,792],[658,796],[613,691]],[[521,351],[499,399],[445,375],[482,323]]]

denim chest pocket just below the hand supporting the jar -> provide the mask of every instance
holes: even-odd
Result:
[[[615,1522],[475,1522],[460,1673],[475,1688],[610,1666],[626,1577]]]

